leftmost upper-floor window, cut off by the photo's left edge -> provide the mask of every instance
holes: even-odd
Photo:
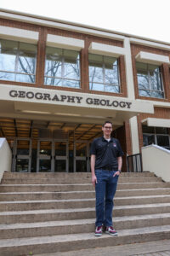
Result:
[[[35,83],[37,46],[0,39],[0,79]]]

